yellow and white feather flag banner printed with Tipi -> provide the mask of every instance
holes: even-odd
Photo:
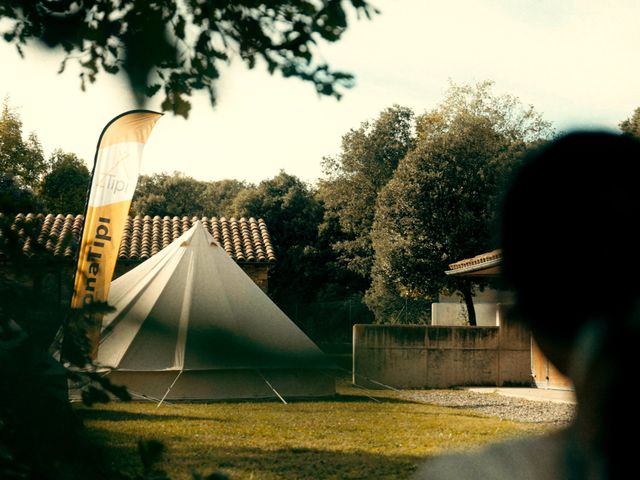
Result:
[[[74,279],[73,309],[107,300],[142,152],[161,116],[149,110],[126,112],[111,120],[100,135]],[[88,333],[95,357],[99,329]]]

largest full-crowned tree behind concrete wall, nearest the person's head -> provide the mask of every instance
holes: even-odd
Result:
[[[475,324],[469,280],[448,264],[493,243],[496,202],[517,160],[552,134],[533,107],[495,95],[491,82],[452,85],[417,119],[417,146],[380,192],[373,227],[373,286],[366,301],[385,321],[385,297],[435,299],[458,291]]]

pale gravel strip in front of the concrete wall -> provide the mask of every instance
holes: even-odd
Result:
[[[477,393],[467,390],[411,392],[412,399],[444,407],[463,408],[482,415],[517,422],[568,424],[575,413],[575,405],[522,398],[507,397],[497,393]]]

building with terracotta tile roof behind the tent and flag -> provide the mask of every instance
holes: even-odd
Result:
[[[267,225],[260,218],[129,216],[113,278],[158,253],[198,220],[255,284],[267,292],[269,269],[276,257]],[[21,260],[34,267],[26,269],[34,293],[46,294],[64,305],[71,298],[83,222],[83,215],[0,213],[0,271],[6,270],[8,249],[18,248],[23,255]]]

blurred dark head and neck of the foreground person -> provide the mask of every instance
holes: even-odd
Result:
[[[563,136],[525,159],[502,209],[503,280],[515,316],[574,382],[571,478],[625,478],[640,340],[640,142]],[[621,432],[626,433],[621,433]],[[634,466],[635,468],[635,466]]]

